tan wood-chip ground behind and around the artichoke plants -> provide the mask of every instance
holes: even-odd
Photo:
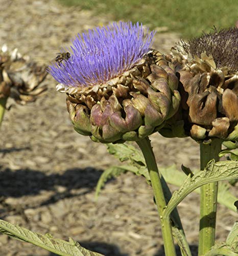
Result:
[[[7,43],[40,63],[49,63],[77,33],[112,20],[78,7],[63,7],[54,0],[0,0],[0,9],[0,45]],[[178,34],[160,32],[153,48],[169,52],[178,40]],[[124,174],[107,182],[96,203],[97,181],[117,161],[105,145],[74,131],[65,95],[56,92],[50,75],[45,83],[49,90],[36,102],[25,106],[8,102],[13,105],[1,127],[0,218],[55,238],[72,237],[85,248],[108,256],[164,255],[151,188],[144,178]],[[159,166],[175,163],[180,168],[183,163],[199,168],[195,141],[158,134],[151,139]],[[189,195],[178,209],[196,255],[198,195]],[[219,205],[218,241],[225,241],[235,219],[234,212]],[[0,255],[53,254],[0,235]]]

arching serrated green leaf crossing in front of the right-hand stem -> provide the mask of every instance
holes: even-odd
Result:
[[[163,216],[168,217],[173,209],[193,190],[207,183],[231,180],[238,177],[238,162],[237,161],[222,161],[215,163],[211,160],[207,167],[198,172],[192,178],[190,175],[184,180],[178,191],[172,195],[170,202],[164,209]]]

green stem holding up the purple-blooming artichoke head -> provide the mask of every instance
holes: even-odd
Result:
[[[170,218],[162,218],[162,210],[166,207],[164,193],[159,177],[158,167],[156,164],[154,152],[148,137],[137,141],[142,154],[145,157],[146,165],[150,174],[151,184],[154,192],[154,197],[157,205],[159,219],[161,223],[162,237],[164,241],[164,251],[167,256],[175,256],[175,246],[172,236],[172,227]]]

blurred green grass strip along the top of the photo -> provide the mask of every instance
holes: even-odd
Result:
[[[183,38],[209,32],[213,26],[226,28],[238,20],[237,0],[58,0],[62,5],[80,6],[113,20],[142,22],[150,29],[179,33]]]

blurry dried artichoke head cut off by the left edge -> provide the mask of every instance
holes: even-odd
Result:
[[[9,51],[6,45],[0,49],[0,98],[11,97],[21,105],[33,102],[47,89],[42,85],[46,75],[45,66],[22,56],[17,49]]]

